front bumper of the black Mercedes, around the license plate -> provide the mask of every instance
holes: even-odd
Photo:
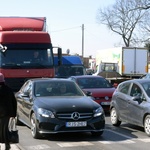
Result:
[[[77,126],[77,127],[67,127],[67,122],[86,122],[86,126]],[[50,134],[50,133],[63,133],[63,132],[99,132],[103,131],[105,128],[105,118],[104,115],[100,117],[95,117],[90,120],[59,120],[59,119],[49,119],[40,117],[37,120],[38,130],[41,134]]]

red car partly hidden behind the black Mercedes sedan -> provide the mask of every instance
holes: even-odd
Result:
[[[108,80],[92,75],[71,76],[69,79],[75,81],[85,93],[91,92],[94,101],[100,104],[105,112],[109,111],[115,88]]]

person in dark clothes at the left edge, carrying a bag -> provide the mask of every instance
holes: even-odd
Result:
[[[0,143],[5,144],[5,150],[9,150],[8,124],[11,117],[16,117],[17,101],[11,88],[5,84],[4,75],[0,73]]]

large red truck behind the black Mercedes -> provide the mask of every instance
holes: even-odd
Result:
[[[29,78],[55,77],[53,49],[45,17],[0,17],[0,72],[13,91]],[[32,61],[35,51],[38,62]]]

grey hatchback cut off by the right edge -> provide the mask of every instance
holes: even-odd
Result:
[[[150,136],[150,80],[133,79],[120,83],[110,104],[111,122],[121,122],[144,127]]]

